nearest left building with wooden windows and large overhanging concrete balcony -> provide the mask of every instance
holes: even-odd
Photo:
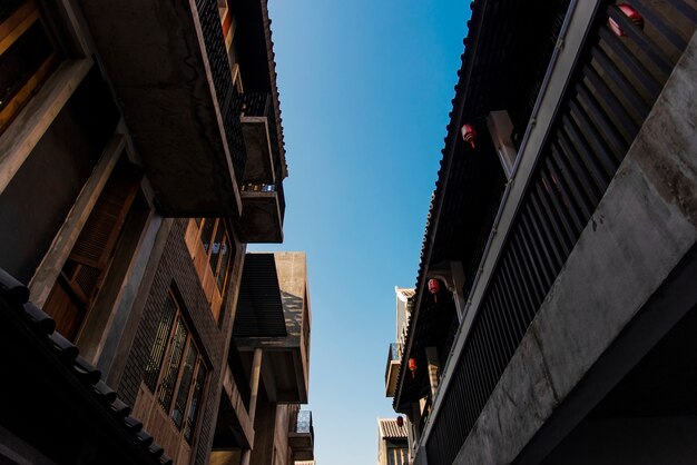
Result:
[[[266,0],[0,6],[0,456],[207,463],[246,245],[283,240],[269,23]]]

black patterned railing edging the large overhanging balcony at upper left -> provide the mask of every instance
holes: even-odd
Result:
[[[225,138],[229,149],[237,184],[242,185],[247,154],[242,136],[237,90],[233,83],[225,39],[220,27],[218,3],[216,0],[196,0],[196,9],[204,34],[206,55],[210,65],[213,85],[217,95],[218,107],[223,118]]]

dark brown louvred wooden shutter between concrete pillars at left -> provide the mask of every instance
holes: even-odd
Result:
[[[58,330],[75,339],[104,281],[114,248],[138,192],[140,176],[119,166],[107,181],[75,243],[45,309]]]

